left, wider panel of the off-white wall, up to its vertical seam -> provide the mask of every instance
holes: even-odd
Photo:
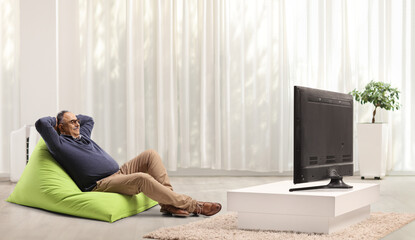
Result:
[[[20,126],[56,112],[56,5],[20,0]]]

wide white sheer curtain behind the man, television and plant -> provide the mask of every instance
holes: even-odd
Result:
[[[120,163],[147,148],[169,170],[290,171],[294,85],[402,90],[390,170],[415,171],[411,1],[79,1],[82,90]],[[356,105],[356,121],[369,107]],[[409,134],[411,133],[411,134]]]

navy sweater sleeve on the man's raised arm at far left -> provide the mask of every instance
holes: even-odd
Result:
[[[59,134],[56,132],[54,126],[56,125],[56,118],[43,117],[36,121],[35,127],[45,140],[49,150],[54,152],[60,144]]]

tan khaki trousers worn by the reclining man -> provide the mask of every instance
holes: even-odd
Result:
[[[189,212],[196,209],[197,203],[189,196],[173,192],[166,168],[154,150],[147,150],[123,164],[118,172],[99,180],[92,191],[126,195],[142,192],[160,205],[173,205]]]

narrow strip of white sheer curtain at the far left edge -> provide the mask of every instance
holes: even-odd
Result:
[[[0,0],[0,177],[8,174],[10,133],[19,127],[18,1]]]

